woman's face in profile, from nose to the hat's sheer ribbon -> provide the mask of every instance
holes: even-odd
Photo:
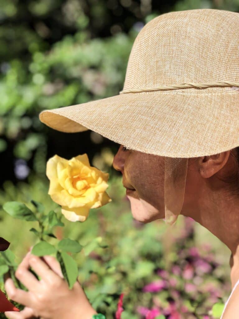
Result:
[[[148,223],[165,217],[164,157],[127,150],[120,145],[113,167],[122,172],[134,219]]]

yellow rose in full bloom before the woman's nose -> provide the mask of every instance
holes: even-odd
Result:
[[[91,167],[87,154],[69,160],[54,155],[47,161],[46,174],[50,180],[48,194],[70,221],[85,221],[91,208],[112,201],[105,192],[109,174]]]

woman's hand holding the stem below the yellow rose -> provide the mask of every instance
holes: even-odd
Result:
[[[91,319],[97,314],[78,281],[71,290],[69,289],[56,258],[43,258],[44,261],[29,252],[15,272],[15,276],[28,291],[16,288],[11,278],[5,281],[8,297],[26,306],[20,312],[7,311],[5,315],[9,319],[38,316],[47,319]],[[29,267],[40,280],[28,270]]]

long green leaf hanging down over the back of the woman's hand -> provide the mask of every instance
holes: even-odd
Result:
[[[64,251],[57,251],[56,258],[59,261],[62,269],[62,274],[68,282],[71,289],[76,282],[78,276],[78,267],[76,261]]]

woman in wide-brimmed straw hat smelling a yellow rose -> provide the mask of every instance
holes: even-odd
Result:
[[[135,39],[120,95],[40,114],[56,130],[91,129],[120,144],[113,167],[122,172],[135,219],[173,224],[181,213],[228,246],[233,291],[223,319],[239,317],[238,40],[238,13],[163,14]],[[6,280],[9,297],[26,306],[6,315],[96,314],[80,283],[70,291],[58,262],[44,258],[46,263],[28,253],[16,271],[28,292]]]

